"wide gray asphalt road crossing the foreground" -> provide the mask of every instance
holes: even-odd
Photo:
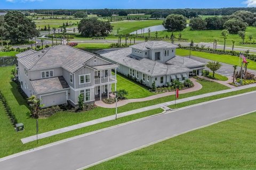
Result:
[[[82,168],[151,142],[255,111],[255,101],[254,92],[151,117],[3,160],[0,169]]]

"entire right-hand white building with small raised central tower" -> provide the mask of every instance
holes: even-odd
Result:
[[[95,52],[102,58],[120,65],[117,72],[131,75],[151,87],[165,86],[173,80],[185,81],[190,75],[201,75],[204,63],[175,55],[178,46],[165,41],[148,41],[115,50]]]

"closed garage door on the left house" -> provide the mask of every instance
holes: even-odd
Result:
[[[41,96],[41,99],[41,103],[44,105],[44,107],[56,106],[67,103],[67,94],[65,91],[59,94]]]

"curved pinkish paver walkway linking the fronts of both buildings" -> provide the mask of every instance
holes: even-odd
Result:
[[[198,83],[196,81],[196,79],[191,78],[190,80],[195,84],[195,86],[193,88],[180,90],[179,94],[186,94],[188,92],[193,92],[193,91],[197,91],[197,90],[202,89],[202,85],[200,83]],[[157,95],[153,95],[153,96],[149,96],[149,97],[145,97],[145,98],[140,98],[140,99],[121,100],[121,101],[117,102],[117,107],[124,106],[126,104],[134,103],[134,102],[154,100],[154,99],[157,99],[157,98],[166,97],[166,96],[170,96],[170,95],[174,95],[174,94],[175,94],[175,91],[171,91],[171,92],[165,92],[163,94],[157,94]],[[115,103],[114,104],[106,104],[102,100],[95,101],[95,105],[97,105],[99,107],[104,107],[104,108],[115,108],[116,107]]]

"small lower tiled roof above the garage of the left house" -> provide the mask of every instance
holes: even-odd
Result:
[[[58,91],[69,88],[68,83],[62,76],[47,79],[31,80],[30,82],[36,94],[43,94],[45,92]]]

